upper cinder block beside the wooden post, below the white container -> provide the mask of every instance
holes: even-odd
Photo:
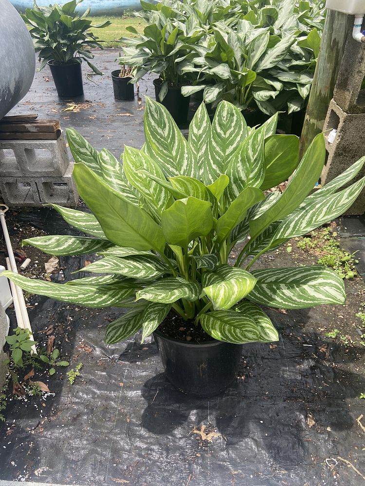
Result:
[[[333,100],[347,113],[365,113],[364,77],[365,45],[349,35],[333,93]]]

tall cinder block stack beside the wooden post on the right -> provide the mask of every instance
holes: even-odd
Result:
[[[321,184],[334,179],[351,164],[365,155],[365,46],[352,37],[347,40],[333,99],[324,125],[328,158],[321,175]],[[336,137],[329,143],[329,133],[336,129]],[[361,171],[357,179],[365,175]],[[365,191],[347,211],[348,215],[365,212]]]

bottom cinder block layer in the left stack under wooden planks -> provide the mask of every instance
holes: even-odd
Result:
[[[78,193],[70,164],[62,177],[2,177],[0,193],[4,203],[12,207],[40,207],[54,203],[76,207]]]

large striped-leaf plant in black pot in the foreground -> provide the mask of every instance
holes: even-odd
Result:
[[[362,178],[348,186],[365,157],[310,194],[325,160],[322,134],[298,164],[299,140],[275,135],[277,116],[248,129],[234,105],[221,102],[211,123],[201,104],[188,140],[149,98],[144,116],[146,144],[126,146],[123,165],[68,130],[73,177],[91,213],[53,208],[88,236],[23,242],[56,256],[97,252],[102,258],[80,270],[94,276],[63,285],[4,275],[77,306],[125,308],[107,327],[107,345],[153,334],[168,379],[185,392],[214,395],[235,380],[245,344],[278,340],[262,306],[344,304],[344,282],[327,267],[252,265],[346,211],[365,185]],[[292,172],[283,194],[265,195]]]

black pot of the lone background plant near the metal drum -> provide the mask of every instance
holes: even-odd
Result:
[[[81,62],[73,60],[69,63],[55,63],[48,61],[58,96],[61,98],[73,98],[84,94],[82,85]]]

